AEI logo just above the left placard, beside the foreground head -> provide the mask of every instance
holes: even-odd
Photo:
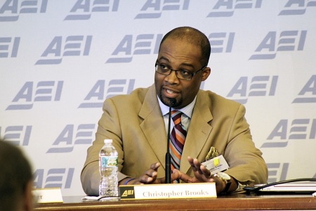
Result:
[[[34,174],[35,188],[70,188],[74,168],[37,169]]]

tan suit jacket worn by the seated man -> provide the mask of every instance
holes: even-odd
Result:
[[[265,183],[267,166],[261,151],[254,146],[244,114],[241,104],[211,91],[199,90],[180,171],[193,176],[187,156],[204,162],[213,146],[230,165],[227,174],[243,184]],[[113,139],[119,153],[119,181],[126,175],[140,177],[154,162],[162,164],[158,178],[164,177],[167,138],[154,85],[107,99],[98,124],[96,141],[88,148],[81,172],[81,184],[88,195],[98,195],[98,153],[104,139]]]

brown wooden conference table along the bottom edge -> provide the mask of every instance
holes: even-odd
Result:
[[[237,193],[217,198],[84,201],[65,196],[63,203],[39,204],[35,210],[316,210],[316,197],[304,194]]]

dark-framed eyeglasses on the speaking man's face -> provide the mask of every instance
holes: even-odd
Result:
[[[154,68],[156,69],[156,72],[158,72],[159,74],[162,75],[170,75],[171,74],[171,68],[168,68],[168,66],[166,65],[160,65],[158,63],[154,64]],[[206,65],[197,70],[197,72],[204,70],[206,68]],[[178,77],[178,79],[184,79],[187,81],[190,81],[192,79],[193,76],[197,75],[197,72],[190,72],[189,70],[173,70],[174,72],[176,72],[176,76]]]

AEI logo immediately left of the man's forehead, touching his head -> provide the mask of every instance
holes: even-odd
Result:
[[[133,55],[157,54],[162,34],[126,34],[106,63],[130,63]]]

